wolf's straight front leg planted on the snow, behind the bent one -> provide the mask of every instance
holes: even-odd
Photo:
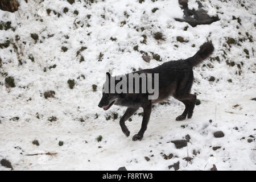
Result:
[[[150,119],[150,114],[152,110],[152,103],[151,100],[148,100],[146,104],[143,105],[143,119],[142,119],[142,125],[141,130],[139,130],[139,133],[133,136],[133,140],[141,140],[143,138],[144,132],[147,130],[147,123]]]

